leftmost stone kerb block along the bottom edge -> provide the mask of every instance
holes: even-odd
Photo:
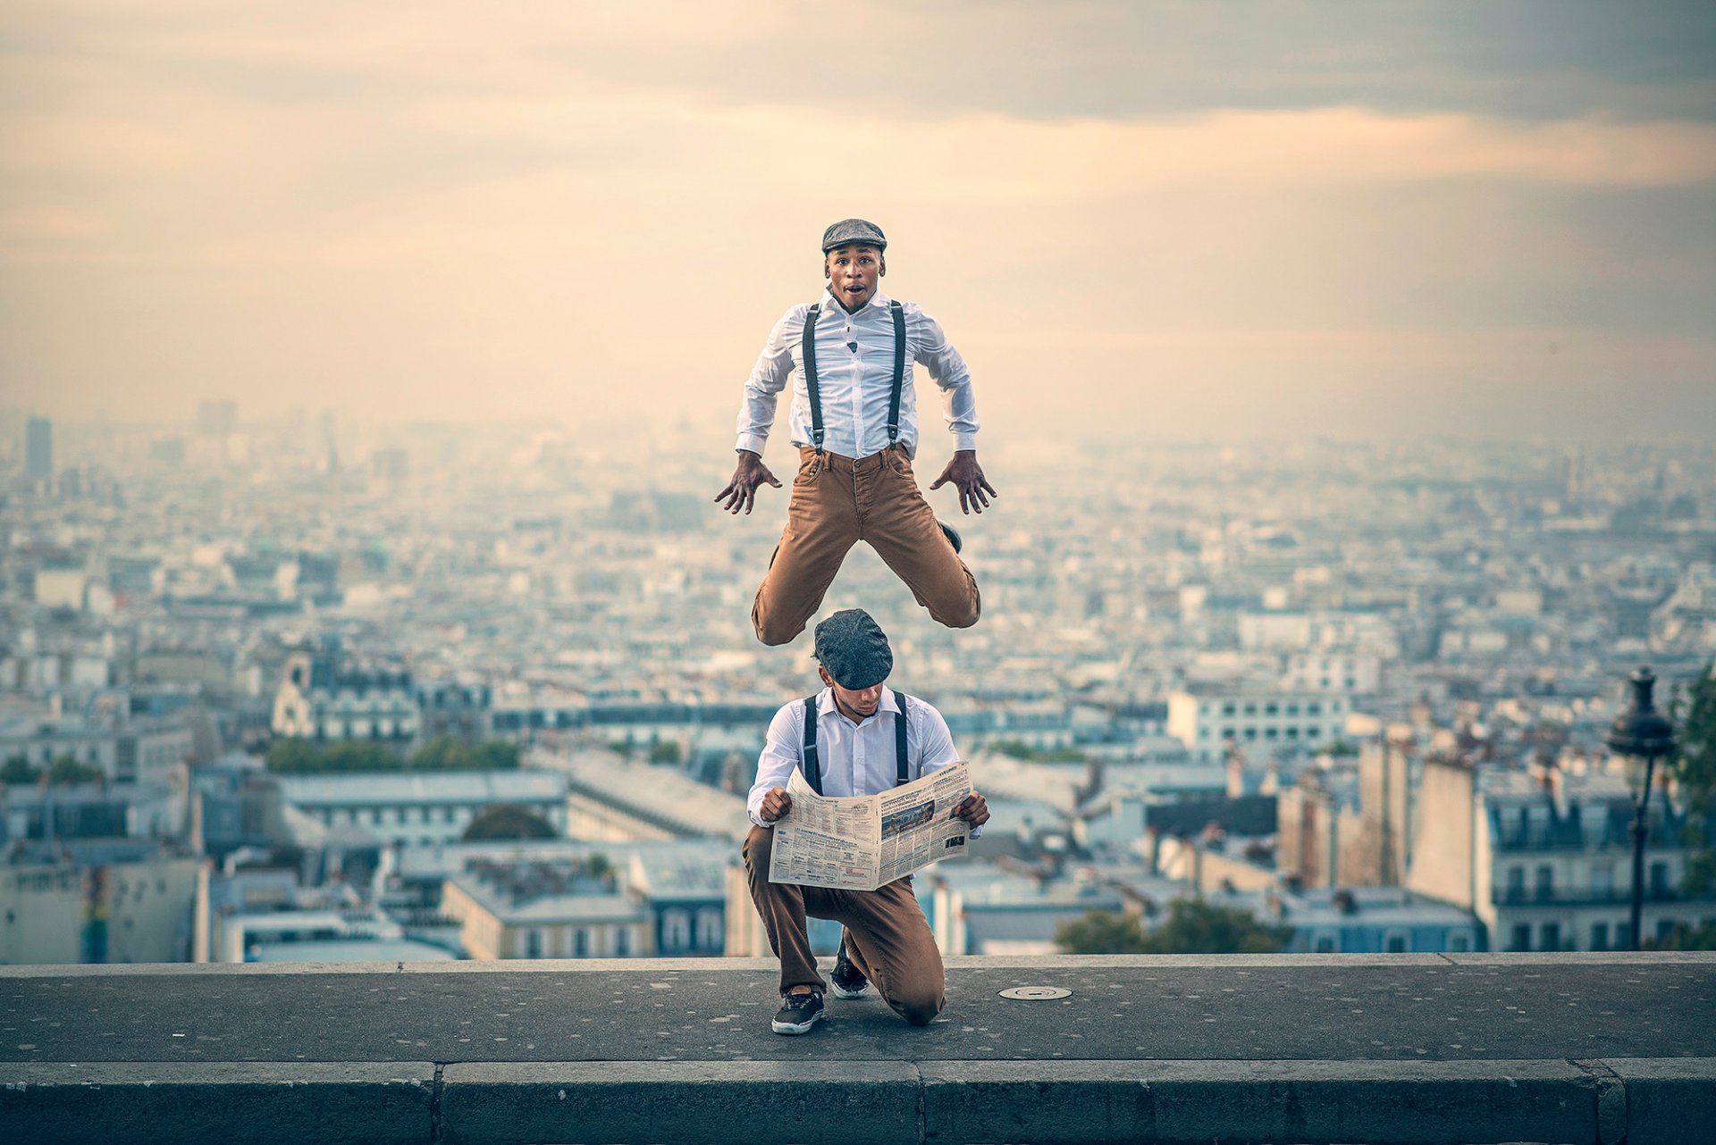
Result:
[[[0,1126],[31,1145],[427,1142],[434,1066],[393,1063],[0,1063]]]

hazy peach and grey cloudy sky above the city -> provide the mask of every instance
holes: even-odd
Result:
[[[1704,0],[12,0],[0,53],[0,405],[719,439],[860,214],[987,441],[1716,437]]]

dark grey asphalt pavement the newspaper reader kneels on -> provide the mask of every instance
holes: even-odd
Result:
[[[0,1061],[1716,1058],[1716,955],[954,958],[947,980],[928,1028],[831,998],[789,1039],[765,960],[0,967]]]

